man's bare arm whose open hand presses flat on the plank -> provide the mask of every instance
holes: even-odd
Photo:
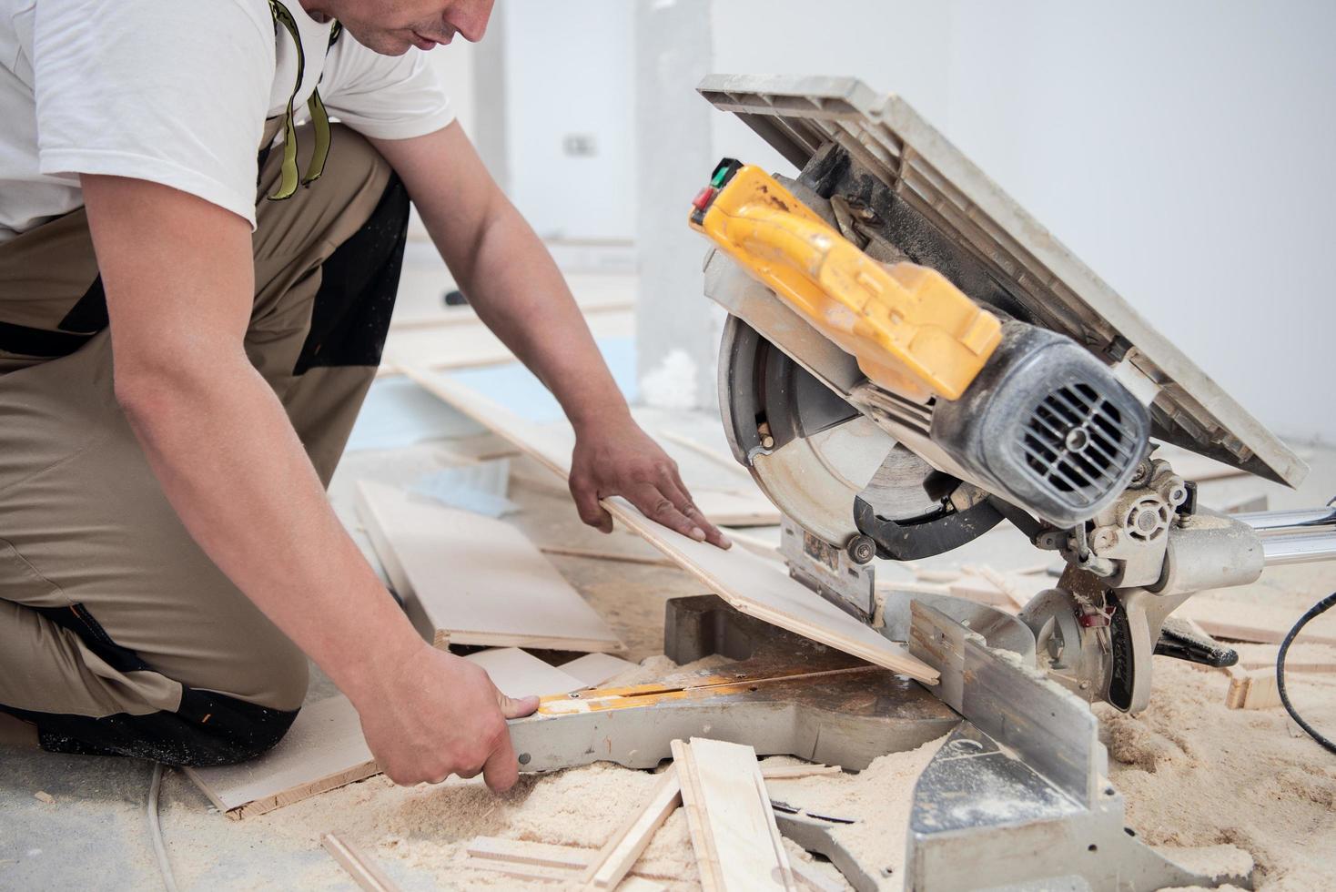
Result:
[[[727,546],[676,463],[640,430],[552,255],[488,174],[458,123],[371,140],[403,178],[432,240],[478,316],[538,377],[576,430],[570,493],[605,531],[599,499],[625,495],[664,526]]]

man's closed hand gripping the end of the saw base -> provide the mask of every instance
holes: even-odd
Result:
[[[520,768],[505,720],[530,714],[537,697],[512,700],[481,666],[426,644],[369,681],[353,705],[366,745],[391,781],[440,784],[481,772],[494,792],[514,785]]]

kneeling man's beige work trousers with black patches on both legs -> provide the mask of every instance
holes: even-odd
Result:
[[[282,150],[262,152],[246,332],[326,483],[407,226],[385,159],[345,127],[333,146],[277,202]],[[305,692],[306,658],[187,534],[116,403],[84,211],[0,244],[0,712],[49,750],[219,764],[277,742]]]

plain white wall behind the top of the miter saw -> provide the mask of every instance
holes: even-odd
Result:
[[[1336,441],[1336,4],[716,0],[724,72],[898,92],[1245,409]],[[719,155],[766,159],[719,116]]]

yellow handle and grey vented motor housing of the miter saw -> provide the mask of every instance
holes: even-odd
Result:
[[[872,260],[759,168],[720,162],[691,224],[856,359],[862,399],[916,430],[942,498],[973,483],[1070,527],[1110,505],[1144,458],[1145,407],[1089,351],[979,306],[935,270]],[[862,506],[858,531],[896,557],[875,502]]]

